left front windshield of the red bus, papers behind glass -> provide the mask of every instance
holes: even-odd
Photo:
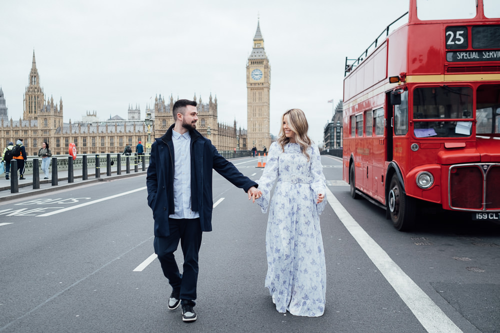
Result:
[[[417,138],[470,136],[472,117],[470,87],[444,85],[413,90],[413,134]]]

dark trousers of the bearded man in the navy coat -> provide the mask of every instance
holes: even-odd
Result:
[[[154,253],[174,293],[179,293],[182,304],[195,305],[198,281],[198,252],[201,246],[201,226],[197,219],[168,219],[170,235],[154,237]],[[182,274],[173,253],[179,245],[184,256]]]

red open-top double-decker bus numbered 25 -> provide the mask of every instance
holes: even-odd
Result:
[[[410,0],[346,58],[343,180],[398,230],[425,202],[500,220],[498,2]]]

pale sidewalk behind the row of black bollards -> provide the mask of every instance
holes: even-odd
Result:
[[[147,170],[147,167],[146,167]],[[33,189],[33,175],[24,174],[25,180],[17,180],[19,192],[10,193],[10,180],[5,179],[5,174],[0,176],[0,202],[27,197],[31,195],[53,192],[58,190],[63,190],[75,186],[81,186],[88,183],[94,183],[98,181],[107,181],[119,178],[133,177],[137,175],[145,174],[146,171],[142,171],[142,167],[139,166],[138,172],[134,172],[133,166],[130,167],[130,173],[126,173],[126,166],[122,166],[121,175],[116,174],[116,167],[111,167],[111,176],[106,176],[106,167],[100,168],[100,178],[95,178],[95,168],[87,170],[87,180],[82,180],[82,169],[73,170],[73,182],[67,182],[67,170],[61,170],[57,172],[57,185],[52,186],[52,177],[49,175],[49,179],[43,179],[43,172],[40,172],[40,188]],[[11,175],[11,174],[10,174]],[[19,175],[17,175],[17,178]]]

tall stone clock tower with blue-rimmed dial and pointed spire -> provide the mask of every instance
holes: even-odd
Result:
[[[271,67],[264,51],[264,39],[257,22],[257,31],[253,37],[253,49],[246,63],[246,105],[248,145],[255,145],[258,150],[269,149],[269,89],[271,85]]]

